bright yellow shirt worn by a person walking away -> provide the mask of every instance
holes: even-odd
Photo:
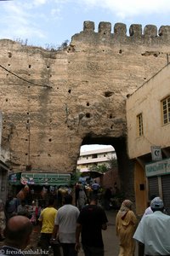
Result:
[[[57,210],[54,207],[46,207],[42,210],[40,218],[38,218],[42,222],[41,233],[53,233],[56,215]]]

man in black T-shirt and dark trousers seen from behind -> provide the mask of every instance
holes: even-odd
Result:
[[[102,230],[107,229],[107,217],[98,205],[97,195],[91,195],[90,204],[82,208],[77,219],[77,251],[80,249],[79,237],[82,232],[82,248],[85,256],[104,256]]]

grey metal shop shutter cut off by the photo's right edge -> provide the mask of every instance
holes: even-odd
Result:
[[[170,175],[161,176],[163,202],[167,213],[170,214]]]

